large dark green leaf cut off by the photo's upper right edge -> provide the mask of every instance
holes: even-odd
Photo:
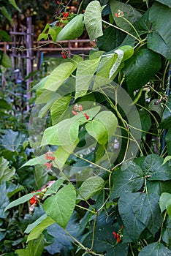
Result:
[[[171,60],[170,15],[171,9],[169,7],[155,2],[151,7],[149,15],[149,19],[153,25],[153,31],[152,34],[148,35],[148,48],[161,53],[169,60]]]

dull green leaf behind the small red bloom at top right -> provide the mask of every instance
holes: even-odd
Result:
[[[131,5],[124,4],[119,1],[110,0],[110,8],[116,25],[128,32],[132,31],[132,26],[129,23],[132,23],[132,25],[134,25],[134,23],[136,23],[142,16],[140,12],[135,10]],[[123,18],[115,17],[115,13],[117,13],[118,10],[121,10],[123,12],[123,18],[129,20],[129,22],[127,22]]]

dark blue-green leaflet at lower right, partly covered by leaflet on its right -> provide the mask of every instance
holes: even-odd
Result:
[[[118,210],[123,221],[123,242],[136,242],[140,238],[145,225],[140,222],[133,211],[134,201],[140,198],[140,192],[123,193],[118,200]]]

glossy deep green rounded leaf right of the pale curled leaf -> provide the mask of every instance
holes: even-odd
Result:
[[[161,67],[161,58],[158,53],[148,49],[140,49],[129,60],[125,61],[125,74],[128,91],[140,89],[153,78]]]

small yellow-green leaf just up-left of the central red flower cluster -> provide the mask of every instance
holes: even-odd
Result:
[[[65,96],[57,99],[56,102],[53,103],[52,107],[50,108],[50,116],[52,118],[53,125],[58,123],[59,118],[61,118],[66,108],[68,108],[70,101],[71,97]]]

